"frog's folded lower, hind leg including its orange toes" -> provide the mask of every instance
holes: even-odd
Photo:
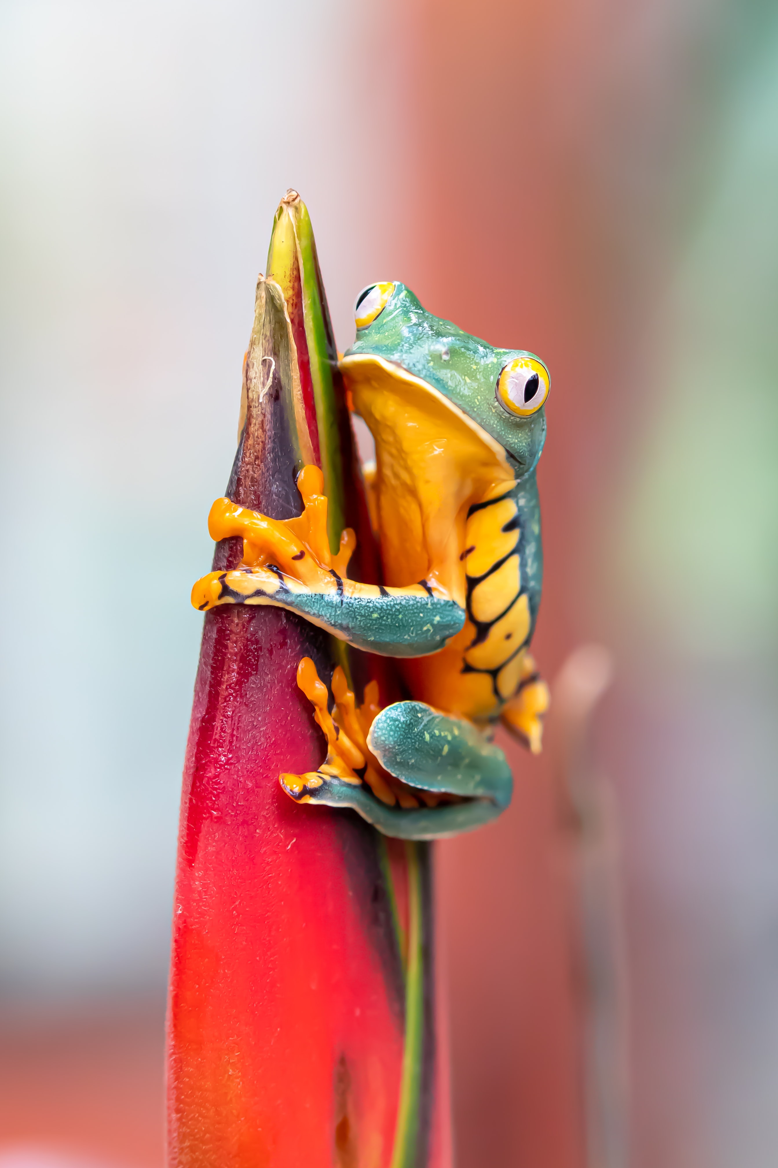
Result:
[[[384,835],[435,840],[488,823],[511,801],[505,756],[471,723],[423,702],[395,702],[380,710],[372,682],[365,704],[357,708],[339,668],[332,676],[335,721],[327,709],[327,687],[307,658],[297,682],[316,708],[329,746],[317,771],[280,776],[299,802],[352,807]]]

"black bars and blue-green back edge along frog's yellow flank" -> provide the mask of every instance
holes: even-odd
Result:
[[[496,559],[495,563],[491,564],[488,571],[483,572],[481,576],[465,575],[465,582],[467,582],[465,609],[468,613],[468,619],[476,631],[476,635],[474,637],[470,645],[468,645],[465,653],[469,649],[475,648],[477,645],[483,645],[483,642],[488,639],[489,632],[492,628],[492,626],[496,625],[498,620],[502,620],[505,616],[507,616],[511,609],[516,604],[518,604],[521,596],[527,597],[527,604],[530,609],[530,630],[527,632],[526,638],[521,641],[520,645],[517,645],[511,655],[507,656],[504,661],[500,661],[500,663],[496,666],[493,669],[478,668],[477,666],[470,665],[469,661],[463,660],[461,670],[462,673],[486,674],[491,679],[492,693],[497,698],[497,701],[499,702],[500,707],[504,704],[505,698],[500,695],[497,688],[497,677],[498,674],[505,668],[505,666],[509,665],[511,661],[513,661],[517,654],[520,653],[524,648],[526,648],[526,646],[532,640],[532,634],[534,632],[534,626],[535,626],[535,619],[538,616],[538,605],[540,600],[539,577],[540,573],[542,572],[542,565],[541,565],[542,552],[540,549],[539,526],[537,535],[535,533],[532,531],[533,516],[537,517],[537,522],[539,524],[539,509],[537,502],[537,487],[534,482],[534,474],[532,475],[532,482],[521,480],[517,482],[513,487],[511,487],[510,491],[506,491],[504,494],[498,495],[497,499],[488,499],[485,502],[474,503],[468,510],[468,519],[476,512],[484,510],[486,507],[491,507],[493,503],[502,502],[504,499],[511,499],[516,503],[517,514],[512,519],[510,519],[507,523],[503,524],[500,531],[509,533],[518,530],[519,537],[516,543],[516,547],[512,548],[511,551],[509,551],[505,556],[502,556],[499,559]],[[476,617],[474,616],[472,603],[471,603],[471,597],[475,589],[477,588],[478,584],[488,579],[493,572],[496,572],[499,568],[502,568],[503,564],[505,564],[509,559],[511,559],[512,556],[519,557],[518,592],[516,593],[516,596],[512,597],[512,599],[503,609],[503,611],[497,613],[497,616],[492,620],[488,621],[477,620]],[[538,577],[538,579],[535,579],[534,577]],[[526,683],[527,681],[521,682],[521,684],[517,688],[517,693],[520,688],[524,688]]]

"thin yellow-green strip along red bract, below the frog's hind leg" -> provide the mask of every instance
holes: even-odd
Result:
[[[422,896],[419,844],[407,841],[408,863],[408,962],[405,979],[405,1051],[400,1079],[400,1104],[394,1128],[391,1168],[415,1168],[419,1129],[419,1092],[425,1020],[425,967],[422,955]]]

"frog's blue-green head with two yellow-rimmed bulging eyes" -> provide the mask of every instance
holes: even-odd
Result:
[[[357,336],[341,364],[346,382],[377,374],[387,383],[414,381],[420,397],[442,395],[496,440],[517,478],[534,468],[546,437],[548,370],[532,353],[463,333],[397,281],[364,288],[355,318]]]

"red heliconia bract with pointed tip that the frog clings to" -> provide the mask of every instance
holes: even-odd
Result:
[[[328,494],[336,473],[346,505],[359,485],[310,221],[296,196],[279,209],[274,242],[300,294],[285,296],[278,263],[278,283],[260,278],[226,493],[288,519],[301,510],[295,480],[311,449],[322,452]],[[317,363],[325,395],[310,375]],[[311,423],[315,443],[301,432]],[[362,520],[349,521],[360,528],[365,578],[370,533],[357,510]],[[239,541],[224,541],[215,568],[240,555]],[[282,609],[205,616],[175,891],[169,1163],[449,1168],[429,847],[387,841],[352,812],[296,805],[281,791],[281,771],[315,770],[325,752],[296,684],[303,656],[322,679],[341,661],[358,688],[369,676],[391,686],[376,659],[345,655]]]

